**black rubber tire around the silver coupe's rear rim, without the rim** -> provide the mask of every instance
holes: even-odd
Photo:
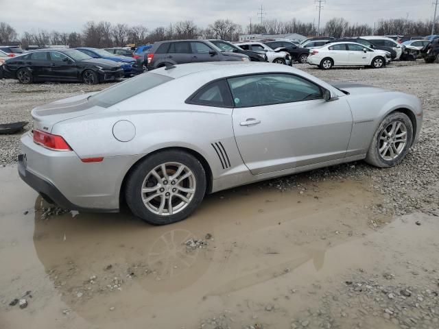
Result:
[[[191,201],[187,203],[187,206],[185,206],[185,208],[179,212],[176,212],[172,215],[158,215],[145,206],[141,191],[144,180],[147,178],[148,173],[166,162],[178,162],[192,171],[193,178],[195,180],[195,192],[193,193]],[[169,184],[169,182],[167,182],[167,184]],[[154,193],[156,192],[157,191],[154,191]],[[164,193],[163,191],[160,192]],[[143,221],[146,221],[152,225],[166,225],[176,223],[177,221],[182,221],[183,219],[187,218],[195,211],[196,208],[198,208],[205,193],[206,173],[202,164],[191,154],[180,150],[160,151],[156,154],[152,154],[151,156],[147,156],[145,159],[141,160],[141,162],[135,165],[128,179],[126,180],[125,185],[126,203],[128,204],[128,207],[131,209],[132,213],[140,219],[143,219]]]

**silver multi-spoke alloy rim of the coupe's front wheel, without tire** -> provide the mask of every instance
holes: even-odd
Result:
[[[379,155],[383,160],[395,160],[403,152],[406,144],[407,127],[402,121],[393,121],[379,136]]]

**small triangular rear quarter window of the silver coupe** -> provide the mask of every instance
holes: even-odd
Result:
[[[224,80],[219,80],[204,86],[195,96],[192,97],[191,103],[226,107],[230,106],[230,97],[228,96],[228,86]]]

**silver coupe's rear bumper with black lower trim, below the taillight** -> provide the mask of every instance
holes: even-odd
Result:
[[[123,178],[141,156],[112,156],[82,162],[75,151],[52,151],[21,137],[19,173],[34,190],[71,210],[115,212]]]

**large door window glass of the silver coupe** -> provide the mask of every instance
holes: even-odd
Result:
[[[322,99],[322,89],[296,75],[259,74],[231,77],[228,84],[237,108]]]

